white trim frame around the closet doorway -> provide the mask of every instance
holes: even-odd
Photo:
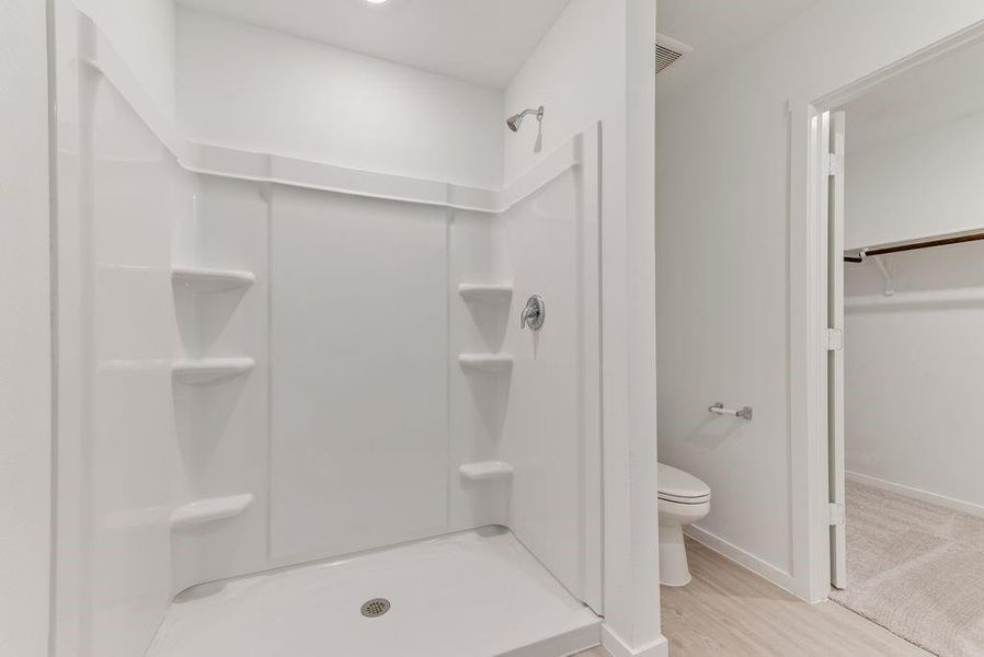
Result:
[[[819,118],[913,67],[982,42],[984,21],[979,21],[849,84],[788,103],[792,574],[798,589],[793,592],[811,602],[827,599],[831,591],[827,326],[823,325],[828,298],[822,270],[831,254],[825,206],[820,203],[824,173]]]

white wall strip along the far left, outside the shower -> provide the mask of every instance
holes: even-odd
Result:
[[[0,654],[48,648],[52,333],[46,5],[0,4]]]

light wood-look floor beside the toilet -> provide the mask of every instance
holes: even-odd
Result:
[[[808,604],[694,541],[694,580],[662,589],[671,657],[929,657],[834,602]],[[600,648],[576,657],[608,657]]]

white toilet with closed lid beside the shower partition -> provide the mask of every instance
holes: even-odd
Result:
[[[711,489],[688,472],[659,465],[660,584],[684,586],[690,581],[684,525],[697,522],[711,510]]]

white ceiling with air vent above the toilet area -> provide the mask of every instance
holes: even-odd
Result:
[[[666,97],[736,57],[815,0],[657,0],[661,34],[694,48],[660,73]]]

